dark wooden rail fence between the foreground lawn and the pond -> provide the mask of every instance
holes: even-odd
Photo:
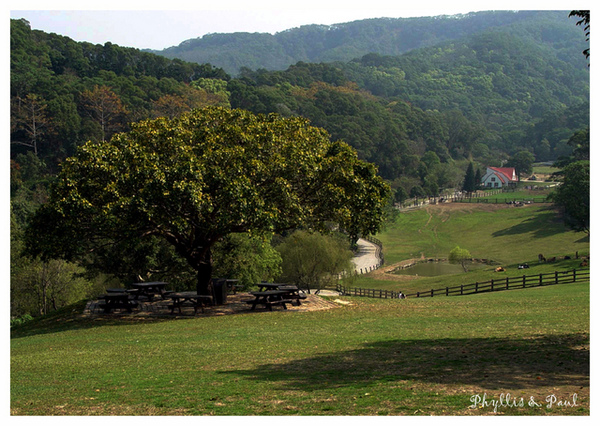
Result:
[[[473,284],[463,284],[454,287],[418,291],[416,293],[405,294],[405,296],[464,296],[468,294],[488,293],[491,291],[514,290],[520,288],[574,283],[577,281],[588,281],[589,279],[589,269],[573,269],[572,271],[555,271],[547,274],[521,275],[517,277],[506,277],[484,282],[475,282]],[[400,295],[400,292],[398,291],[369,288],[346,288],[341,285],[338,285],[336,290],[344,296],[364,296],[381,299],[397,299]]]

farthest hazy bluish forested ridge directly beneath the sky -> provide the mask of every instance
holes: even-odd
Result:
[[[553,48],[575,45],[583,50],[581,29],[575,28],[568,14],[568,11],[495,11],[367,19],[330,26],[306,25],[274,35],[209,34],[153,52],[168,58],[210,63],[237,75],[242,67],[283,70],[298,61],[350,61],[368,53],[400,55],[489,30],[518,34]]]

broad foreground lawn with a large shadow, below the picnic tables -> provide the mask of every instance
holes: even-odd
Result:
[[[13,330],[13,415],[589,414],[589,284]],[[545,399],[573,401],[576,406]],[[527,403],[533,398],[540,406]]]

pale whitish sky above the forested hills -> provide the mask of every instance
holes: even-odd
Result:
[[[139,1],[104,0],[98,2],[104,10],[81,10],[81,1],[13,3],[10,17],[27,19],[32,29],[75,41],[110,41],[123,47],[157,50],[208,33],[274,34],[301,25],[331,25],[367,18],[455,15],[480,10],[571,10],[575,6],[554,0],[174,0],[156,2],[156,6],[146,2],[140,8]]]

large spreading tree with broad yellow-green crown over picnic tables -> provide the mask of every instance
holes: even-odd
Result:
[[[31,221],[28,247],[87,256],[124,239],[159,236],[208,292],[211,248],[233,232],[378,231],[390,195],[372,164],[300,117],[208,107],[132,125],[82,146]]]

